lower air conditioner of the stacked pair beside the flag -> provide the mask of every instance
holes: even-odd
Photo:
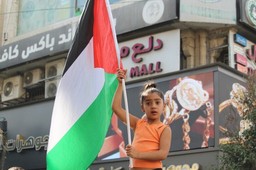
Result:
[[[56,95],[60,79],[61,78],[58,77],[55,78],[53,81],[45,82],[45,98],[53,97]]]

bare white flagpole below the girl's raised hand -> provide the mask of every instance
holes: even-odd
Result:
[[[125,88],[125,82],[122,78],[122,85],[123,85],[123,96],[124,96],[124,104],[125,104],[125,110],[126,110],[126,122],[127,122],[127,131],[128,131],[128,144],[132,145],[131,142],[131,129],[130,129],[130,119],[129,119],[129,110],[128,110],[128,102],[127,102],[127,95],[126,95],[126,88]],[[133,160],[130,158],[130,168],[133,168]]]

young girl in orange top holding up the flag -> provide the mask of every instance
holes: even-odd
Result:
[[[112,110],[127,125],[126,112],[121,107],[122,100],[122,78],[126,78],[127,70],[124,72],[117,69],[117,80],[119,82],[112,101]],[[146,113],[147,120],[141,120],[131,114],[130,127],[134,131],[132,145],[126,146],[126,154],[133,158],[132,170],[161,169],[161,160],[165,160],[171,144],[171,129],[168,125],[160,122],[160,116],[165,109],[163,93],[156,88],[153,81],[142,86],[140,93],[140,107]]]

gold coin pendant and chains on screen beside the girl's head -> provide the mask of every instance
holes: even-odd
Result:
[[[201,106],[206,104],[207,118],[205,120],[202,147],[207,147],[210,135],[209,127],[211,125],[210,116],[212,114],[212,107],[210,102],[208,102],[209,93],[203,90],[201,81],[197,81],[192,78],[180,78],[179,81],[180,83],[177,86],[164,94],[167,107],[163,111],[163,123],[168,125],[174,120],[183,118],[182,131],[184,136],[182,140],[184,142],[184,149],[189,149],[190,137],[188,133],[190,131],[190,126],[188,124],[188,114],[190,111],[198,110]],[[180,111],[178,111],[177,103],[173,100],[175,97],[182,107]]]

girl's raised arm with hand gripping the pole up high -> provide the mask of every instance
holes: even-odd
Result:
[[[118,86],[117,86],[117,90],[116,93],[113,97],[112,100],[112,110],[116,113],[117,117],[119,117],[119,119],[125,124],[127,125],[127,121],[126,121],[126,111],[123,110],[123,108],[121,107],[121,103],[122,103],[122,93],[123,93],[123,87],[122,87],[122,78],[126,78],[126,73],[127,70],[125,70],[125,73],[121,70],[121,69],[117,69],[117,80],[118,80]],[[130,127],[131,129],[135,130],[136,127],[136,123],[139,120],[139,118],[131,115],[129,113],[129,118],[130,118]]]

